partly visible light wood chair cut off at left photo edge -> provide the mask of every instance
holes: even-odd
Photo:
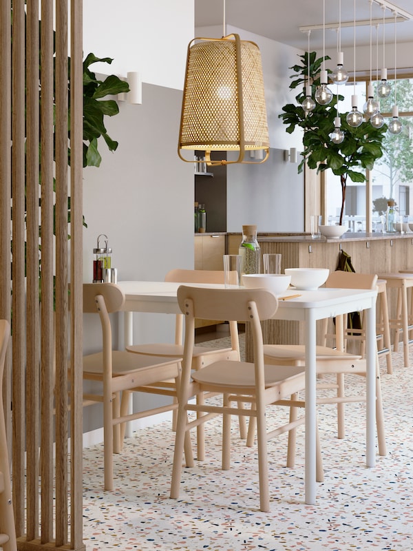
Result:
[[[9,338],[10,324],[6,320],[0,320],[0,547],[4,551],[17,551],[8,443],[3,410],[3,371]]]

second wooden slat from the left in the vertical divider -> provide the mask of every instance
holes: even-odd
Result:
[[[13,500],[16,532],[25,533],[25,15],[13,1]]]

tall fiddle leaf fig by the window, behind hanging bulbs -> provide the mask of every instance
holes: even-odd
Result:
[[[346,113],[339,113],[339,102],[343,96],[333,96],[328,105],[316,103],[312,112],[305,112],[301,102],[306,97],[305,86],[311,85],[312,96],[319,85],[319,70],[325,56],[318,58],[316,52],[306,52],[300,55],[301,64],[290,67],[294,71],[290,83],[290,89],[299,89],[295,96],[297,104],[288,103],[279,114],[283,123],[287,126],[286,132],[292,134],[295,129],[303,131],[302,160],[298,165],[298,171],[302,172],[304,165],[317,172],[330,169],[333,174],[340,177],[341,183],[341,210],[339,224],[343,222],[344,206],[346,202],[347,178],[353,182],[365,182],[366,174],[363,169],[372,170],[374,161],[383,155],[383,139],[387,125],[374,128],[369,121],[363,121],[359,127],[352,127],[346,121]],[[308,67],[309,61],[309,67]],[[310,81],[308,81],[308,74]],[[341,121],[341,131],[344,134],[342,143],[333,143],[330,139],[331,132],[335,129],[335,117]]]

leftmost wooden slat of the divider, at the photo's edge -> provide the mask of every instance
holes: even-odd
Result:
[[[10,1],[0,7],[0,318],[10,321]],[[10,347],[9,347],[10,350]],[[4,366],[3,404],[11,448],[10,353]]]

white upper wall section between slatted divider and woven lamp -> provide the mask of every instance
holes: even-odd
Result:
[[[96,72],[138,71],[143,82],[182,90],[193,21],[193,0],[87,0],[83,52],[114,58]]]

